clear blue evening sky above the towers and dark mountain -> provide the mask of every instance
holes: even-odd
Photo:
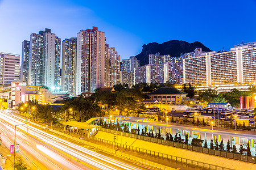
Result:
[[[22,41],[44,28],[61,40],[98,27],[121,59],[143,44],[200,41],[229,50],[256,41],[256,0],[247,1],[30,1],[0,0],[0,52],[21,54]]]

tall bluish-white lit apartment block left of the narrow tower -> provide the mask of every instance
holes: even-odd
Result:
[[[23,41],[24,50],[26,41]],[[51,29],[31,33],[28,56],[22,53],[22,76],[31,86],[60,87],[60,39]],[[28,59],[27,59],[28,57]],[[28,67],[26,62],[28,60]],[[28,73],[27,80],[24,77]]]

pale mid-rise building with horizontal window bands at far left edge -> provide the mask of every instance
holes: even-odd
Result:
[[[0,53],[0,86],[20,81],[19,62],[18,54]]]

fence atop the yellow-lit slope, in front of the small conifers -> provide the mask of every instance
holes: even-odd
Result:
[[[108,133],[116,133],[115,130],[110,130],[110,129],[99,128],[99,130],[106,131]],[[144,137],[142,135],[125,133],[125,132],[123,132],[122,135],[125,136],[125,137],[141,139],[143,141],[159,143],[159,144],[162,144],[162,145],[168,145],[168,146],[172,146],[172,147],[179,147],[179,148],[184,148],[184,149],[187,149],[187,150],[203,152],[204,154],[222,156],[224,158],[241,160],[243,162],[249,162],[249,163],[254,163],[254,164],[256,163],[256,157],[255,156],[246,156],[246,155],[241,155],[241,154],[233,154],[233,153],[226,152],[226,151],[212,150],[210,148],[203,148],[203,147],[197,147],[197,146],[192,146],[192,145],[185,145],[184,143],[177,143],[177,142],[166,141],[164,139]]]

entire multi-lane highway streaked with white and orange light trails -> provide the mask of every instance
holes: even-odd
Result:
[[[0,125],[2,141],[6,146],[13,145],[13,125],[24,124],[24,120],[3,112],[0,112],[0,117],[4,120]],[[30,125],[28,134],[33,137],[23,132],[27,131],[27,125],[16,127],[19,127],[16,130],[16,143],[20,144],[20,154],[24,156],[31,169],[152,169],[125,159],[110,158]],[[59,151],[79,160],[84,167],[59,154]]]

